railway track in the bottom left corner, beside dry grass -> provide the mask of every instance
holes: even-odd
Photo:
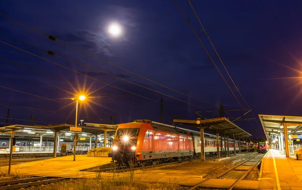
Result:
[[[3,181],[0,182],[0,190],[5,189],[17,189],[17,188],[26,188],[29,186],[37,186],[42,184],[54,183],[62,181],[64,179],[70,179],[69,177],[53,178],[50,176],[43,177],[31,177],[25,179],[18,179],[12,181]]]

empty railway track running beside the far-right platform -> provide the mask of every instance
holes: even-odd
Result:
[[[196,189],[197,187],[199,187],[199,185],[201,185],[202,183],[205,183],[206,181],[208,181],[210,179],[236,179],[236,181],[228,188],[229,190],[231,190],[240,180],[243,180],[243,179],[251,180],[252,176],[249,175],[249,173],[261,161],[263,156],[264,156],[263,154],[257,154],[255,156],[253,156],[252,158],[249,158],[249,159],[229,168],[228,170],[225,170],[213,177],[210,177],[208,179],[205,179],[205,180],[195,184],[188,190]]]

